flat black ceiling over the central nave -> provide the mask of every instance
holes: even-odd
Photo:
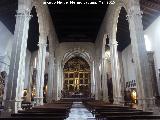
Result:
[[[57,0],[47,0],[54,2]],[[79,0],[83,1],[84,0]],[[48,5],[59,42],[95,42],[108,5]]]

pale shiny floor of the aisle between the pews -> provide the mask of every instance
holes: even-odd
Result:
[[[85,108],[82,102],[73,102],[71,112],[66,120],[95,120],[95,117]]]

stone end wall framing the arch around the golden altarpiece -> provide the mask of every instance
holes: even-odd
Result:
[[[80,53],[86,52],[90,56],[90,68],[91,74],[93,75],[93,61],[95,58],[95,45],[94,43],[90,42],[65,42],[60,43],[57,46],[55,51],[55,58],[56,58],[56,72],[57,72],[57,82],[58,82],[58,89],[61,90],[63,86],[63,58],[67,52],[72,53],[74,51],[79,51]],[[63,63],[65,64],[65,63]],[[93,78],[91,78],[91,84],[94,84]],[[92,85],[94,86],[94,85]],[[94,90],[93,90],[94,91]]]

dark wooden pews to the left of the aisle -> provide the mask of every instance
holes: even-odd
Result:
[[[11,120],[64,120],[69,116],[72,102],[55,101],[31,109],[19,110]],[[3,118],[0,118],[3,119]],[[4,118],[6,119],[6,118]]]

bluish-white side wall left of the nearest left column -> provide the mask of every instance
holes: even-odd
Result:
[[[0,21],[0,71],[9,73],[13,34]]]

